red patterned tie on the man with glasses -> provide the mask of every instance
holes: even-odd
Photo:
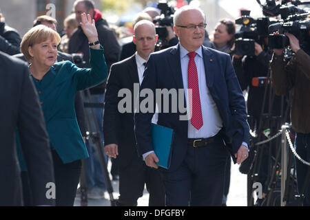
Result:
[[[196,52],[189,52],[188,63],[188,88],[192,89],[192,97],[189,96],[189,103],[192,101],[192,119],[191,124],[199,130],[203,126],[203,115],[201,113],[201,104],[199,96],[199,84],[198,84],[198,74],[197,67],[195,63]],[[192,100],[191,100],[192,98]]]

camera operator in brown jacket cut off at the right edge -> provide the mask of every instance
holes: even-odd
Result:
[[[273,90],[277,95],[287,94],[293,89],[293,103],[291,106],[291,126],[296,131],[295,147],[298,155],[310,161],[310,56],[309,45],[300,48],[299,40],[293,34],[285,34],[289,38],[289,45],[293,52],[291,60],[284,61],[284,50],[274,49],[271,60],[271,82]],[[310,33],[309,33],[310,35]],[[308,43],[309,43],[308,36]],[[306,53],[307,52],[307,53]],[[306,181],[306,166],[296,160],[296,173],[298,190],[301,192],[304,181]],[[309,190],[305,192],[304,206],[310,206]]]

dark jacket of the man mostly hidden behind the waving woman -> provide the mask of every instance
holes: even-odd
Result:
[[[23,54],[16,54],[14,55],[16,58],[20,58],[23,61],[26,61],[25,56]],[[72,56],[70,54],[66,54],[63,52],[57,52],[57,62],[61,61],[72,61]],[[79,123],[79,128],[81,130],[81,133],[83,137],[86,135],[86,121],[85,121],[85,111],[84,111],[84,105],[82,100],[82,91],[77,91],[75,98],[74,98],[74,108],[76,113],[76,119]]]

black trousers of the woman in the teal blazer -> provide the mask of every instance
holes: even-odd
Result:
[[[52,150],[52,157],[56,185],[56,206],[73,206],[81,175],[81,159],[63,164],[55,150]]]

